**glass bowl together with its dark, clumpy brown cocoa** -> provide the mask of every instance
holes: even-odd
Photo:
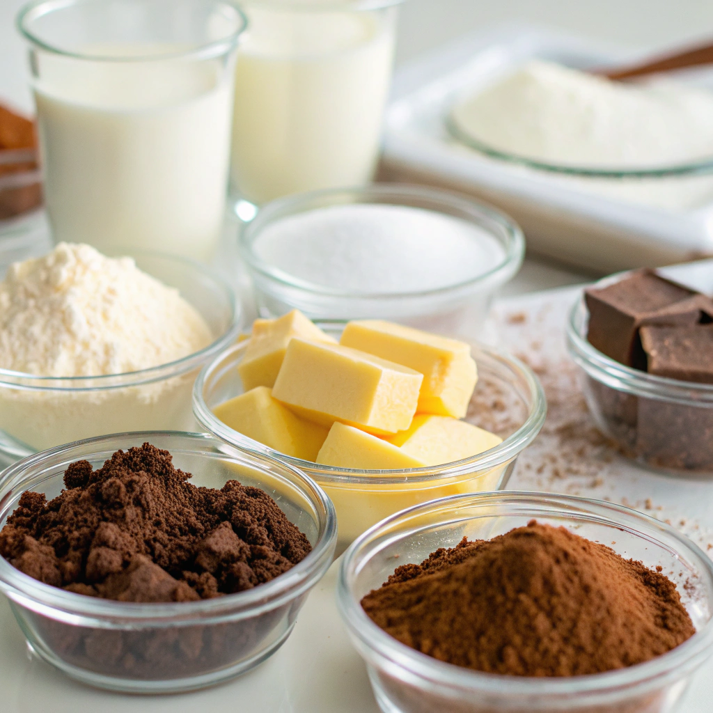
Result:
[[[115,461],[129,456],[122,471]],[[42,514],[30,527],[33,503]],[[202,688],[272,655],[337,540],[334,506],[304,473],[172,431],[14,464],[0,479],[0,525],[0,590],[31,650],[81,682],[137,693]]]

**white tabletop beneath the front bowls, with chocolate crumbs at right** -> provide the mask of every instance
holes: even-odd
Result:
[[[713,292],[713,261],[667,270],[676,279]],[[494,307],[501,327],[501,342],[511,349],[527,348],[532,334],[548,344],[548,354],[564,356],[563,321],[577,288],[504,299]],[[508,314],[526,313],[521,323]],[[540,315],[540,317],[538,317]],[[538,319],[540,321],[538,321]],[[525,327],[524,325],[529,325]],[[546,430],[546,429],[545,429]],[[548,440],[550,438],[550,440]],[[695,478],[659,476],[621,457],[603,458],[597,475],[578,476],[573,491],[571,478],[558,486],[543,487],[526,463],[545,462],[556,447],[543,431],[520,456],[511,488],[555,490],[593,498],[628,502],[645,509],[645,501],[663,503],[659,518],[672,520],[694,541],[705,546],[713,540],[710,494],[713,484]],[[553,445],[554,443],[554,445]],[[545,453],[544,456],[541,453]],[[539,459],[539,461],[538,461]],[[556,462],[556,461],[555,461]],[[578,479],[575,478],[575,481]],[[587,483],[585,481],[590,481]],[[551,483],[545,483],[550,486]],[[24,638],[4,597],[0,597],[0,692],[3,713],[378,713],[364,664],[349,643],[334,604],[338,562],[309,595],[294,632],[284,646],[256,670],[233,682],[202,692],[178,696],[137,697],[105,693],[71,682],[36,657],[27,655]],[[713,699],[713,661],[696,675],[680,713],[708,713]]]

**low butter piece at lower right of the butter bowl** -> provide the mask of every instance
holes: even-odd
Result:
[[[426,466],[461,461],[502,443],[500,436],[450,416],[418,414],[407,431],[385,438]]]

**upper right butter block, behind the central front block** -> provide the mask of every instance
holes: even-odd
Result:
[[[465,342],[380,319],[363,319],[347,324],[339,344],[423,374],[419,413],[455,419],[466,415],[478,370],[471,347]]]

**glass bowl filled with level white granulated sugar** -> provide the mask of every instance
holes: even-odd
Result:
[[[262,317],[297,308],[441,334],[478,329],[524,250],[518,225],[497,210],[398,184],[281,198],[240,235]]]

